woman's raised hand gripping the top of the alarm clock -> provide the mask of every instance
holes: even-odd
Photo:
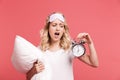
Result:
[[[90,35],[88,33],[79,33],[77,35],[77,39],[83,40],[87,44],[92,43],[92,39],[91,39],[91,37],[90,37]]]

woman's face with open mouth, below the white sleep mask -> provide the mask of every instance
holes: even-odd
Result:
[[[60,41],[64,32],[65,32],[64,23],[59,19],[56,19],[50,23],[49,34],[51,41],[53,42]]]

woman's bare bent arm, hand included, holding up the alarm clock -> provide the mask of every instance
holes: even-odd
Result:
[[[90,35],[88,33],[79,33],[77,38],[84,40],[88,44],[89,48],[89,54],[85,54],[81,57],[78,57],[78,59],[90,66],[98,67],[98,57]]]

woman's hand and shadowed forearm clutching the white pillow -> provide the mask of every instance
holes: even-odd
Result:
[[[40,73],[44,70],[44,65],[41,61],[36,61],[34,62],[33,64],[33,67],[31,68],[31,70],[29,70],[26,74],[26,79],[27,80],[30,80],[33,75],[37,74],[37,73]]]

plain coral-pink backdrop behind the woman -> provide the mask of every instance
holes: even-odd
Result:
[[[74,61],[75,80],[120,80],[120,0],[0,0],[0,80],[25,80],[11,63],[15,35],[38,45],[46,16],[62,12],[75,37],[92,36],[100,66]]]

